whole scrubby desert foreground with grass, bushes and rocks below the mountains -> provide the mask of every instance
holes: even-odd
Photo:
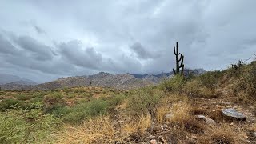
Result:
[[[2,90],[2,143],[256,143],[256,62],[156,86]]]

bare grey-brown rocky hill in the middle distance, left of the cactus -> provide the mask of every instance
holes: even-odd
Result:
[[[147,80],[135,78],[131,74],[109,74],[100,72],[90,76],[76,76],[68,78],[59,78],[53,82],[46,82],[34,86],[34,89],[56,89],[62,87],[74,86],[103,86],[114,87],[117,89],[132,89],[142,86],[154,85],[155,83]]]

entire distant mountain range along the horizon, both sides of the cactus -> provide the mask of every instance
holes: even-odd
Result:
[[[205,70],[185,70],[185,74],[194,73],[202,74]],[[52,90],[64,87],[74,86],[103,86],[103,87],[114,87],[117,89],[134,89],[143,86],[156,85],[166,78],[171,78],[173,73],[161,73],[161,74],[109,74],[100,72],[98,74],[89,76],[74,76],[67,78],[58,78],[52,82],[46,82],[38,85],[30,81],[28,85],[24,85],[26,82],[14,81],[11,83],[5,83],[1,85],[2,89],[5,90]],[[19,77],[18,77],[19,78]]]

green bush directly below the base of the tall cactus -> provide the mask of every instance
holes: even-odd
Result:
[[[166,92],[182,93],[182,86],[185,84],[185,79],[181,75],[175,75],[173,78],[167,79],[160,84],[160,88]]]

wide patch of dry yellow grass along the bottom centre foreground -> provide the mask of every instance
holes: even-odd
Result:
[[[138,121],[125,122],[114,126],[107,116],[89,119],[80,126],[66,126],[56,134],[56,143],[127,143],[131,134],[143,135],[151,125],[150,115],[142,116]]]

